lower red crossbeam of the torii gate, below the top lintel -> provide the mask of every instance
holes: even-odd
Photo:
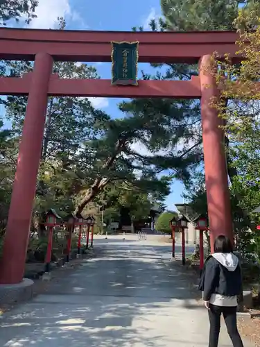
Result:
[[[1,95],[26,95],[30,90],[32,74],[24,78],[0,78]],[[200,78],[191,81],[139,81],[139,86],[111,85],[110,80],[62,79],[51,76],[51,96],[105,96],[132,98],[200,99]]]

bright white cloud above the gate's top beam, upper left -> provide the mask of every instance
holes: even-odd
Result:
[[[29,28],[49,29],[57,27],[57,18],[64,17],[73,22],[82,22],[80,14],[73,10],[69,0],[39,0],[34,18],[28,25]]]

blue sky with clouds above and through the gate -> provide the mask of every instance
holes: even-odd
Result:
[[[144,26],[144,30],[148,31],[150,19],[159,17],[161,8],[159,0],[39,0],[36,14],[37,18],[27,27],[55,28],[57,18],[64,17],[67,29],[71,30],[131,31],[133,26]],[[93,65],[101,78],[111,78],[110,63],[100,62]],[[141,69],[148,73],[155,72],[155,69],[146,63],[139,64],[139,73]],[[92,102],[112,117],[121,117],[116,106],[121,100],[99,98]],[[175,181],[171,191],[166,205],[173,210],[174,203],[182,203],[182,183]]]

